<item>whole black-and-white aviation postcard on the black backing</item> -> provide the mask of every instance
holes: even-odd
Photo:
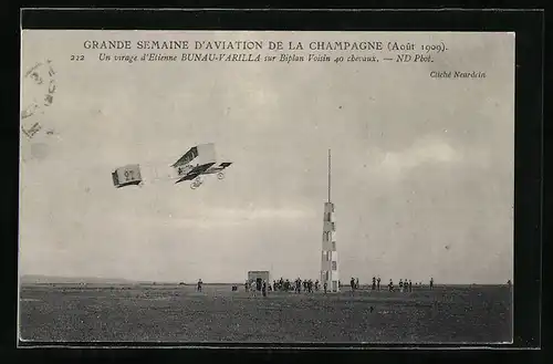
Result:
[[[19,340],[511,343],[514,39],[23,30]]]

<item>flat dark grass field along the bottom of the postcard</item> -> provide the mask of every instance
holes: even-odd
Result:
[[[269,292],[239,285],[23,284],[20,339],[40,342],[510,342],[504,285]],[[371,312],[373,306],[373,312]]]

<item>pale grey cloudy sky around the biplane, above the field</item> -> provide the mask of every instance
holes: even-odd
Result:
[[[448,52],[408,64],[128,64],[97,61],[86,39],[397,39]],[[56,90],[24,119],[53,133],[21,142],[21,274],[316,279],[330,148],[342,281],[512,279],[513,34],[25,31],[22,48],[23,72],[52,61]],[[234,163],[225,180],[114,188],[116,167],[167,166],[200,143]]]

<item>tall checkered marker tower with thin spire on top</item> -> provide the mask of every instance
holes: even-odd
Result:
[[[331,201],[331,149],[328,149],[328,200],[324,204],[323,249],[321,254],[321,283],[331,292],[340,292],[338,254],[336,251],[336,222]]]

